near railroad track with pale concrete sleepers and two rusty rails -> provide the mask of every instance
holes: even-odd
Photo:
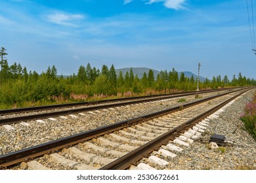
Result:
[[[207,125],[205,122],[194,126],[198,121],[246,91],[224,93],[182,107],[173,107],[4,154],[0,156],[0,167],[2,169],[129,169],[132,164],[136,164],[141,158],[169,141],[179,144],[178,146],[188,146],[193,138],[200,138],[203,125]],[[185,133],[185,130],[192,134],[190,135],[192,139],[188,139],[189,134]],[[183,137],[179,137],[181,133],[184,133]],[[176,137],[179,139],[175,139]],[[174,144],[167,144],[165,147],[177,147]],[[181,148],[177,147],[177,150]],[[168,154],[166,149],[159,153]],[[150,161],[157,159],[156,156],[150,157]]]

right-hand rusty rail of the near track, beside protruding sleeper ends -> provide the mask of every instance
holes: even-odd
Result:
[[[245,92],[247,92],[247,91],[245,91]],[[242,92],[242,93],[245,93],[245,92]],[[179,134],[179,131],[182,131],[182,129],[185,129],[188,126],[192,126],[192,125],[196,124],[197,122],[199,122],[203,118],[206,118],[207,116],[209,116],[210,114],[212,114],[219,108],[223,107],[224,105],[226,105],[227,103],[229,103],[230,101],[235,99],[236,97],[242,95],[242,93],[239,93],[238,95],[235,95],[234,97],[232,97],[230,99],[227,99],[223,103],[220,103],[219,105],[217,105],[213,108],[210,108],[206,112],[199,114],[198,116],[188,120],[184,124],[181,124],[173,129],[171,129],[170,131],[167,131],[166,133],[164,133],[163,135],[160,135],[160,137],[157,137],[153,141],[150,141],[150,142],[144,144],[143,146],[140,146],[139,148],[133,150],[129,154],[125,154],[125,156],[122,156],[121,158],[116,159],[115,161],[113,161],[112,163],[109,163],[108,165],[105,165],[104,167],[101,167],[100,170],[124,170],[124,169],[127,169],[129,166],[135,164],[137,161],[139,161],[143,157],[148,156],[148,154],[150,154],[150,152],[152,152],[153,150],[157,150],[158,148],[160,148],[161,145],[166,144],[170,140],[173,141],[175,139],[175,137],[177,137],[177,135]]]

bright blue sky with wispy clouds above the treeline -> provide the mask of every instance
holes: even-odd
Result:
[[[256,5],[256,4],[255,4]],[[1,0],[9,64],[77,73],[90,63],[256,78],[246,1]]]

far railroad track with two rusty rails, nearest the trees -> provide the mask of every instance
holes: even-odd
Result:
[[[41,120],[44,118],[54,118],[56,116],[64,116],[70,114],[77,114],[79,112],[89,112],[93,110],[100,110],[104,108],[114,108],[121,107],[125,105],[134,105],[138,103],[147,103],[152,101],[164,101],[167,99],[175,99],[178,97],[187,97],[196,94],[202,93],[213,93],[213,92],[228,92],[230,90],[239,90],[239,88],[223,88],[220,90],[205,90],[200,92],[184,92],[184,93],[173,93],[173,94],[164,94],[152,96],[143,96],[143,97],[129,97],[125,99],[113,99],[113,100],[104,100],[104,101],[93,101],[85,103],[73,103],[66,105],[51,105],[43,107],[30,107],[30,108],[16,108],[10,110],[0,110],[0,125],[9,125],[19,122],[26,122],[29,120]],[[150,97],[149,99],[145,99]],[[126,100],[132,101],[126,101]],[[114,102],[111,104],[103,104],[106,102]],[[94,105],[93,104],[99,104]],[[88,106],[89,105],[89,106]],[[79,106],[79,107],[78,107]],[[69,108],[67,108],[69,107]]]

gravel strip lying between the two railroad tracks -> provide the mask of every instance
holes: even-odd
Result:
[[[204,93],[200,97],[209,97],[219,92]],[[181,98],[186,98],[186,102],[177,102]],[[143,116],[153,112],[158,112],[167,108],[183,105],[195,101],[195,96],[180,97],[179,99],[170,99],[158,103],[142,103],[141,105],[129,105],[114,110],[108,108],[81,114],[75,114],[76,118],[65,116],[67,119],[56,117],[56,121],[45,119],[45,123],[36,122],[35,120],[12,124],[13,129],[7,130],[0,127],[0,155],[22,150],[37,144],[53,141],[56,139],[75,135],[84,131],[89,131],[104,125],[114,124],[130,118]]]

